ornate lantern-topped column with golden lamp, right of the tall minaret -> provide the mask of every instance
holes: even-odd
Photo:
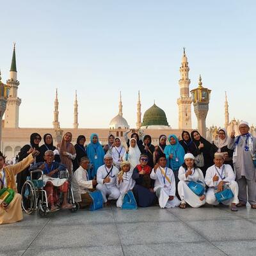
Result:
[[[198,122],[198,131],[205,138],[205,119],[209,110],[211,90],[202,86],[201,76],[199,77],[198,88],[191,90],[191,95],[194,103],[194,111]]]

